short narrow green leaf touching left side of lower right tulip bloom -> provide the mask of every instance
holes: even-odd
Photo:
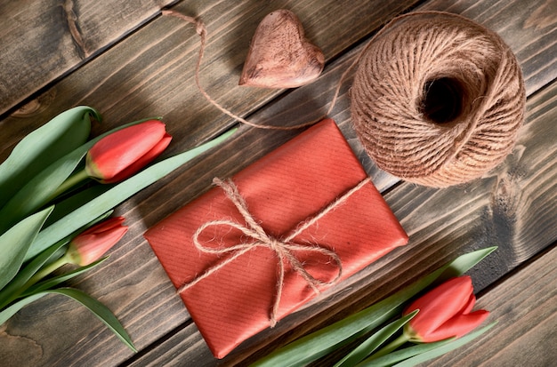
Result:
[[[363,361],[366,359],[367,355],[371,355],[375,352],[375,349],[380,347],[387,339],[391,338],[392,335],[406,325],[408,321],[412,320],[417,313],[418,310],[411,312],[410,314],[389,323],[379,331],[376,331],[375,334],[367,338],[358,347],[352,350],[351,353],[336,363],[335,367],[352,367]]]

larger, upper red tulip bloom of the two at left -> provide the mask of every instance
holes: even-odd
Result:
[[[126,127],[89,149],[85,172],[102,183],[127,179],[160,155],[170,140],[165,124],[158,120]]]

